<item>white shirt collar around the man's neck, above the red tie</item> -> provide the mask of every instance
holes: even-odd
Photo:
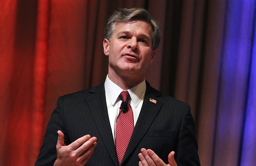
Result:
[[[114,106],[119,101],[119,94],[123,91],[118,85],[113,83],[108,75],[105,81],[105,92],[108,96],[109,101]],[[127,90],[131,96],[131,100],[135,107],[137,107],[140,101],[144,98],[146,92],[146,82],[145,80],[138,85],[133,86],[131,89]]]

